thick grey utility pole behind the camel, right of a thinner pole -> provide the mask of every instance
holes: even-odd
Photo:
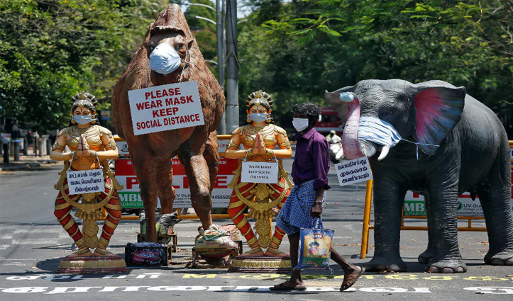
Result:
[[[226,0],[226,4],[226,130],[233,132],[238,127],[237,1]]]

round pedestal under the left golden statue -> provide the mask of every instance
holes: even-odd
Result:
[[[59,263],[56,273],[107,274],[128,273],[125,260],[121,256],[65,257]]]

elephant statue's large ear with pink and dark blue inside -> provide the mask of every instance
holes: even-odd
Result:
[[[460,121],[465,106],[465,87],[445,81],[426,81],[415,85],[414,99],[417,127],[414,138],[422,152],[432,156],[441,142]],[[432,145],[426,145],[432,144]]]

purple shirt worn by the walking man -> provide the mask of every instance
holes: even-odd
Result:
[[[314,180],[314,189],[328,185],[329,144],[326,138],[313,128],[304,135],[297,135],[296,154],[292,163],[294,185]]]

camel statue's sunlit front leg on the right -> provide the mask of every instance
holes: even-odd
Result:
[[[185,174],[189,178],[192,208],[196,211],[203,229],[212,225],[209,166],[203,157],[204,145],[199,149],[180,147],[178,157],[184,165]]]

